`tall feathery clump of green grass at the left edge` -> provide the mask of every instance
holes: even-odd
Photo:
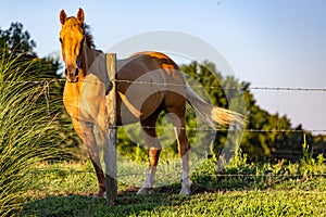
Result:
[[[14,215],[35,184],[37,162],[58,157],[52,118],[39,106],[43,84],[25,82],[35,61],[0,50],[0,216]],[[62,150],[63,151],[63,150]]]

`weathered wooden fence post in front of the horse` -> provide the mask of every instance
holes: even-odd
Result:
[[[112,82],[112,90],[105,97],[108,111],[106,143],[104,148],[106,203],[114,204],[117,196],[116,171],[116,54],[106,53],[106,71]]]

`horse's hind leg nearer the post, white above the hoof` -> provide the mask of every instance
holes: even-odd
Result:
[[[149,194],[150,190],[153,188],[156,167],[162,149],[155,129],[158,116],[159,114],[153,114],[147,119],[140,122],[145,141],[148,146],[149,168],[143,184],[137,194]]]

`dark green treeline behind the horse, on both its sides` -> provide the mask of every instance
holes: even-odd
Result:
[[[26,30],[24,31],[23,25],[20,23],[13,23],[5,30],[0,29],[0,48],[3,54],[2,58],[4,59],[11,56],[18,58],[20,61],[27,60],[29,64],[25,68],[22,68],[21,65],[20,68],[16,68],[24,72],[22,74],[24,80],[45,81],[45,88],[48,91],[47,94],[40,98],[38,103],[39,106],[48,107],[45,115],[52,118],[53,125],[57,125],[53,135],[58,138],[53,145],[63,148],[80,146],[80,141],[73,130],[71,119],[65,113],[62,103],[64,81],[60,80],[62,75],[58,73],[61,68],[60,61],[53,58],[37,56],[35,52],[36,42]],[[244,131],[241,141],[241,149],[247,153],[249,158],[288,158],[296,161],[301,156],[304,135],[313,154],[323,153],[326,155],[326,136],[314,136],[302,129],[301,125],[292,126],[289,117],[280,116],[279,114],[269,114],[267,111],[264,111],[256,104],[253,93],[250,92],[249,82],[239,81],[231,76],[224,77],[216,67],[218,66],[215,66],[214,63],[205,61],[203,63],[192,62],[183,65],[181,69],[187,76],[190,76],[204,88],[213,104],[222,107],[228,107],[228,103],[237,103],[229,102],[226,95],[235,94],[233,99],[236,100],[239,97],[236,95],[239,89],[235,92],[231,91],[234,87],[240,87],[246,101],[246,114],[243,114],[247,119],[246,129],[253,130]],[[5,81],[5,78],[3,79]],[[189,110],[187,126],[190,128],[188,130],[190,141],[196,135],[191,131],[191,128],[196,128],[193,115]],[[162,118],[159,119],[159,127],[161,122]],[[133,137],[141,137],[140,130],[134,130],[131,133],[134,135]],[[225,143],[227,133],[227,130],[218,131],[214,141],[208,144],[208,149],[212,149],[215,154],[218,154]],[[124,129],[118,130],[118,151],[125,155],[137,153],[137,156],[134,156],[134,158],[139,156],[145,157],[146,149],[139,149],[139,144],[137,145],[137,142],[134,142],[130,139],[130,135],[126,133]],[[80,148],[75,149],[74,152],[77,153],[77,150],[80,150]],[[176,153],[176,144],[171,145],[168,150],[172,153]],[[80,155],[78,152],[77,155],[70,154],[70,156],[78,158]]]

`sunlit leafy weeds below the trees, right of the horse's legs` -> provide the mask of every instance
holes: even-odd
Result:
[[[281,182],[301,182],[325,176],[326,166],[323,154],[314,158],[308,151],[306,144],[303,144],[302,152],[303,156],[297,163],[286,159],[276,164],[248,163],[247,154],[238,149],[234,158],[224,165],[224,170],[217,171],[216,161],[208,159],[193,171],[191,179],[205,188],[264,190]]]

